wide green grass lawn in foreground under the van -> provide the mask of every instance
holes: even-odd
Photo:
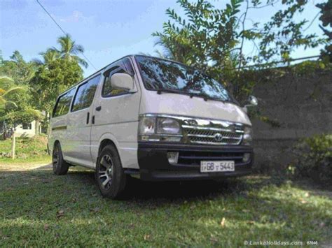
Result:
[[[251,176],[225,182],[134,181],[102,198],[93,173],[0,165],[0,246],[232,246],[244,240],[331,245],[332,192]]]

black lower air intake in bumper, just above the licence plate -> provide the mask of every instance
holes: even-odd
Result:
[[[179,152],[179,164],[199,166],[200,161],[235,161],[235,165],[242,163],[243,152]]]

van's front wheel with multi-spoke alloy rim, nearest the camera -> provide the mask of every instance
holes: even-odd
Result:
[[[102,196],[112,199],[123,196],[127,177],[113,145],[106,145],[99,154],[95,178]]]

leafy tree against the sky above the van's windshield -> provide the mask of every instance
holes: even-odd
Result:
[[[304,34],[307,20],[294,21],[307,0],[283,0],[282,10],[272,13],[269,22],[250,25],[250,10],[263,9],[277,1],[231,0],[225,8],[215,8],[204,0],[177,2],[184,17],[168,8],[170,20],[163,24],[162,32],[153,33],[164,49],[164,57],[199,68],[223,82],[235,97],[249,89],[242,78],[242,69],[248,64],[289,61],[295,48],[313,48],[324,42],[315,34]],[[247,42],[256,51],[254,54],[244,53]]]

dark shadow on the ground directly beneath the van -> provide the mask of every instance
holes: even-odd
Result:
[[[67,177],[74,180],[83,180],[95,185],[95,175],[92,170],[75,167],[69,170]],[[154,203],[184,202],[197,199],[212,199],[217,196],[246,196],[250,189],[260,189],[268,185],[281,185],[283,179],[261,176],[225,178],[223,180],[193,180],[193,181],[165,181],[145,182],[132,177],[127,177],[127,187],[121,200],[125,202],[139,202],[153,200]],[[102,196],[101,196],[102,197]],[[151,203],[149,203],[151,206]]]

